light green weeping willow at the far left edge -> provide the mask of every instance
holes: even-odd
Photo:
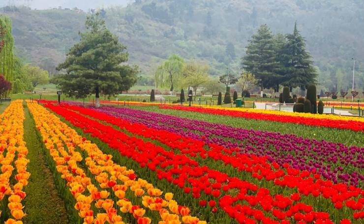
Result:
[[[0,74],[5,79],[13,81],[14,71],[14,38],[11,34],[11,20],[7,16],[0,16]]]

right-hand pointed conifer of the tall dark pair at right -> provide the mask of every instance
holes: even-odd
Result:
[[[297,23],[292,34],[286,35],[287,42],[282,49],[279,61],[282,65],[282,85],[291,89],[307,88],[309,84],[316,82],[316,70],[311,61],[311,55],[306,51],[306,43],[303,36],[297,30]]]

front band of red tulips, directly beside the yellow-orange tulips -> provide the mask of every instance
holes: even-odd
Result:
[[[273,214],[273,216],[274,214],[278,214],[273,211],[279,210],[284,212],[288,207],[295,206],[296,204],[290,197],[283,197],[280,194],[270,195],[271,193],[268,189],[258,189],[256,185],[247,181],[229,177],[226,173],[212,170],[207,166],[200,166],[198,162],[191,160],[185,155],[175,154],[173,151],[166,151],[164,148],[156,146],[151,142],[144,142],[140,138],[129,137],[119,130],[102,125],[66,108],[50,104],[46,106],[63,116],[73,125],[84,129],[85,132],[90,132],[93,136],[108,143],[111,148],[118,149],[121,155],[136,160],[142,167],[148,166],[149,169],[157,173],[159,179],[166,179],[183,188],[186,193],[192,192],[195,198],[200,198],[201,194],[203,194],[204,198],[219,198],[221,196],[224,198],[224,196],[230,195],[229,192],[231,190],[235,189],[240,192],[238,199],[248,202],[252,209],[256,208],[255,206],[258,206],[258,204],[270,205],[267,206],[267,212]],[[212,189],[213,185],[216,188],[214,190]],[[218,186],[221,186],[221,189],[218,189]],[[210,189],[212,190],[211,192]],[[250,195],[251,193],[255,193],[256,196]],[[263,197],[259,195],[263,195]],[[293,197],[297,198],[297,196]],[[202,206],[204,205],[203,200],[201,204]],[[210,201],[209,205],[214,206],[214,201]],[[302,217],[313,215],[313,220],[329,221],[328,213],[313,212],[311,206],[303,203],[300,203],[300,205],[306,206],[307,211]],[[242,214],[237,206],[229,207],[224,204],[221,206],[220,200],[220,207],[232,218],[243,223]],[[212,208],[213,211],[216,211],[215,207]],[[291,216],[285,216],[285,218],[289,220],[298,212],[299,210],[292,213]],[[275,223],[269,217],[265,217],[264,220]]]

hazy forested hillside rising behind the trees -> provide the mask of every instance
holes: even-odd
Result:
[[[3,11],[13,20],[19,54],[51,72],[79,40],[87,15],[61,9]],[[348,88],[355,57],[358,85],[364,86],[363,0],[136,0],[101,15],[145,75],[173,53],[209,62],[212,74],[227,65],[238,70],[247,40],[259,25],[288,33],[297,21],[320,68],[320,83]]]

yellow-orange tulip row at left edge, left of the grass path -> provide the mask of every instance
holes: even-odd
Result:
[[[22,103],[22,100],[11,102],[0,115],[0,200],[8,195],[7,207],[14,218],[7,219],[5,224],[22,224],[21,219],[25,216],[24,206],[21,202],[27,195],[23,191],[23,187],[28,185],[30,173],[27,172],[29,160],[26,159],[26,156],[28,149],[23,138],[25,116]],[[3,155],[4,152],[6,152],[5,156]],[[10,179],[13,176],[14,164],[16,183],[11,185]]]

